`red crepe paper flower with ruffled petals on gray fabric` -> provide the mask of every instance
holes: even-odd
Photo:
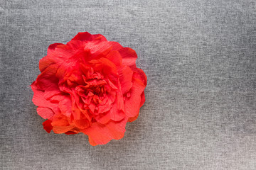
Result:
[[[78,33],[66,45],[50,45],[31,84],[38,115],[47,119],[43,128],[83,132],[91,145],[121,139],[145,101],[146,75],[136,59],[134,50],[100,34]]]

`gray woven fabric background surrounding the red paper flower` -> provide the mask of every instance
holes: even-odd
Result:
[[[0,0],[0,169],[256,169],[252,0]],[[30,85],[48,45],[101,33],[137,51],[146,103],[119,141],[48,134]]]

